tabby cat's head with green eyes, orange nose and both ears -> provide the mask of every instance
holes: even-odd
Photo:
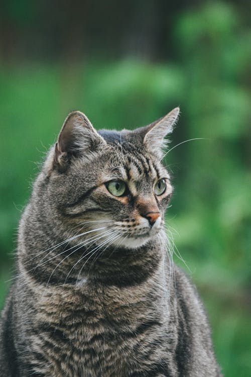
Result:
[[[178,114],[121,132],[96,131],[81,112],[68,115],[43,169],[48,213],[64,237],[137,248],[157,236],[172,194],[163,148]]]

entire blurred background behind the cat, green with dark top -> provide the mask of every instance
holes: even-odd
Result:
[[[10,0],[0,25],[0,306],[32,181],[68,112],[133,129],[181,107],[175,244],[225,376],[251,375],[251,3]],[[178,254],[178,252],[177,252]]]

